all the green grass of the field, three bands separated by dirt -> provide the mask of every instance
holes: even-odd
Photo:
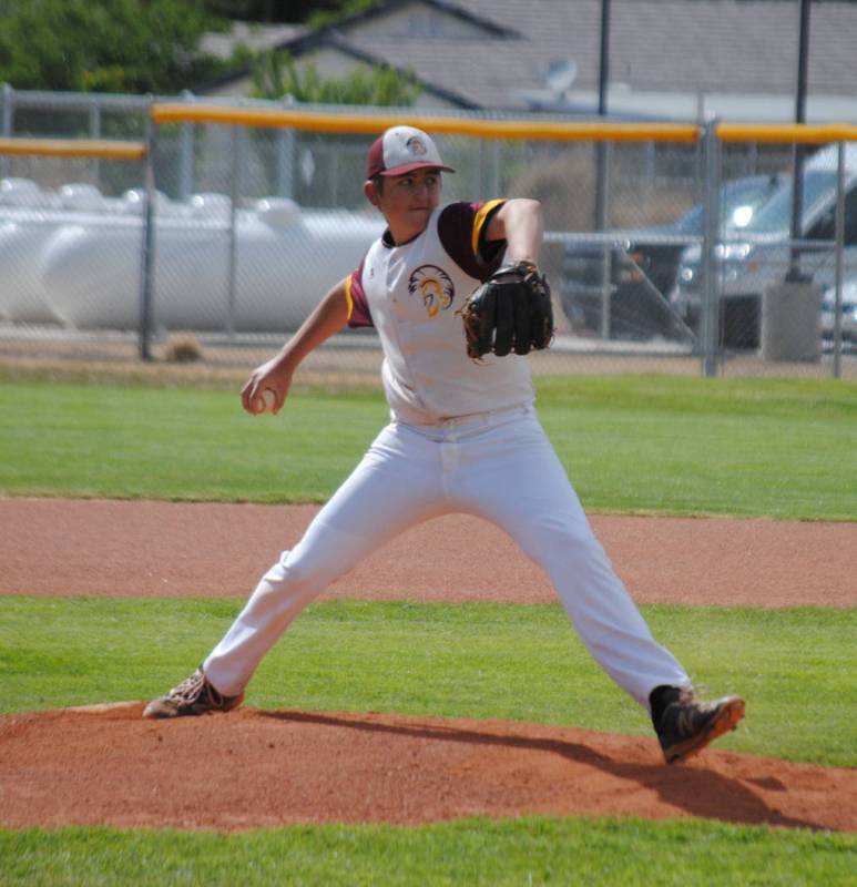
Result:
[[[544,379],[539,404],[590,509],[857,519],[854,385]],[[243,415],[234,392],[0,381],[0,492],[317,501],[385,417],[375,394],[302,394],[272,420]],[[8,713],[160,692],[196,664],[238,602],[0,605]],[[753,699],[724,748],[855,766],[857,694],[843,681],[857,666],[855,611],[654,606],[645,615],[694,677]],[[265,660],[248,702],[650,730],[558,606],[318,604]],[[704,820],[539,817],[228,836],[0,830],[0,885],[845,885],[855,868],[853,835]]]

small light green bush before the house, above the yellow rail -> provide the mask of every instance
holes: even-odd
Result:
[[[255,99],[292,95],[298,102],[319,104],[410,105],[420,93],[412,74],[375,65],[345,78],[323,79],[313,62],[298,70],[287,52],[265,52],[253,63]]]

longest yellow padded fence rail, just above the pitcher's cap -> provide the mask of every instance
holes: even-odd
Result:
[[[695,142],[700,128],[693,123],[562,123],[529,120],[467,120],[419,114],[348,114],[320,111],[225,108],[213,104],[160,102],[152,105],[155,123],[224,123],[244,126],[288,126],[313,132],[375,135],[405,123],[431,133],[482,139],[539,139],[558,142]]]

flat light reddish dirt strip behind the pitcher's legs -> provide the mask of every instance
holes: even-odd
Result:
[[[317,510],[0,499],[0,594],[245,598]],[[639,603],[857,606],[857,523],[595,516],[592,524]],[[330,594],[555,600],[504,533],[460,514],[402,534]]]

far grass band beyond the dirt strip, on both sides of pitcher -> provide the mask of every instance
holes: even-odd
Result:
[[[857,386],[666,377],[539,380],[586,508],[855,520]],[[0,381],[0,492],[322,501],[386,420],[378,394],[295,395],[276,419],[235,392]]]

